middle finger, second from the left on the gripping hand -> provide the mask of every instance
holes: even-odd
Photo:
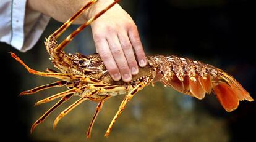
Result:
[[[126,57],[124,56],[124,52],[122,51],[122,47],[117,35],[116,34],[109,35],[107,40],[108,40],[111,53],[121,73],[122,80],[124,82],[131,81],[132,74],[130,73],[130,69],[127,64]]]

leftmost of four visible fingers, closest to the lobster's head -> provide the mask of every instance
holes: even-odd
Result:
[[[116,65],[116,61],[114,61],[106,39],[100,39],[98,41],[95,41],[95,46],[112,79],[114,81],[119,81],[121,79],[121,75]]]

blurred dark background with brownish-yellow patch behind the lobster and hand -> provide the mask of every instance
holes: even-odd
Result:
[[[145,52],[174,54],[218,66],[256,98],[255,24],[252,1],[246,0],[163,0],[121,1],[134,18]],[[28,66],[43,71],[53,68],[43,45],[44,38],[61,23],[51,20],[36,46],[21,53],[0,43],[2,134],[7,140],[24,141],[252,141],[254,140],[255,102],[240,102],[234,112],[221,108],[213,94],[203,100],[181,95],[161,84],[147,87],[129,102],[114,125],[109,138],[103,138],[124,96],[106,101],[92,131],[85,139],[95,103],[86,102],[64,117],[52,130],[55,117],[71,103],[61,106],[30,135],[30,126],[54,103],[33,107],[36,101],[65,89],[45,90],[18,97],[23,90],[56,81],[33,76],[14,61],[14,52]],[[77,26],[72,26],[63,38]],[[86,40],[85,40],[86,39]],[[66,52],[88,55],[95,52],[90,28],[67,47]],[[74,98],[71,101],[75,101]]]

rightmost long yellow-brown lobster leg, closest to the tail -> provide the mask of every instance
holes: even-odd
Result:
[[[116,112],[116,115],[112,119],[111,123],[109,124],[108,130],[105,133],[105,137],[109,136],[109,133],[111,132],[111,128],[113,127],[114,123],[116,122],[116,119],[120,116],[124,108],[126,108],[126,104],[128,101],[132,100],[132,97],[134,97],[135,93],[139,92],[139,90],[143,89],[150,81],[140,82],[138,85],[134,87],[124,98],[121,105],[119,106],[119,110]]]

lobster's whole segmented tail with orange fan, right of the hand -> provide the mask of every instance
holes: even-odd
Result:
[[[232,76],[214,66],[174,55],[148,56],[148,63],[156,71],[153,82],[160,81],[178,92],[203,99],[211,90],[223,108],[230,112],[239,101],[253,101],[250,94]]]

